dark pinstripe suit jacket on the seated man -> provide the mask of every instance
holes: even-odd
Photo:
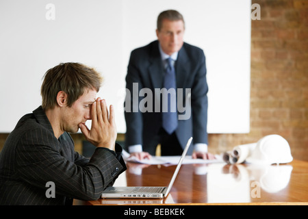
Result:
[[[73,198],[96,200],[126,170],[120,156],[97,148],[86,159],[74,151],[68,133],[55,138],[42,107],[18,121],[0,153],[0,205],[66,205]],[[55,183],[55,198],[47,198]]]

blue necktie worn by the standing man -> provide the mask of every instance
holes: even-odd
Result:
[[[162,127],[166,130],[167,133],[171,134],[173,131],[175,131],[175,129],[177,129],[177,85],[175,79],[175,68],[172,65],[172,60],[169,57],[166,61],[168,66],[166,68],[164,88],[167,90],[172,88],[172,90],[174,89],[174,92],[171,92],[170,98],[168,98],[168,112],[162,112]],[[171,112],[171,101],[174,101],[175,103],[175,110],[173,110],[175,112]]]

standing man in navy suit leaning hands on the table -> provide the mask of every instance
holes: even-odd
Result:
[[[139,159],[155,155],[157,144],[161,144],[162,155],[181,155],[191,136],[194,147],[190,147],[188,154],[194,158],[214,158],[207,153],[208,88],[205,55],[198,47],[183,42],[184,32],[183,16],[176,10],[166,10],[157,18],[157,40],[131,52],[126,77],[127,90],[130,92],[127,92],[125,99],[125,145],[129,153]],[[133,103],[136,100],[136,96],[133,96],[136,94],[133,92],[136,85],[138,94],[142,88],[152,91],[155,98],[147,104],[153,105],[153,110],[140,112],[138,109],[136,112],[136,103]],[[155,95],[157,88],[175,90],[173,94],[170,92],[168,99],[176,103],[175,111],[171,107],[168,112],[164,111],[162,106],[168,104],[164,94]],[[179,95],[180,92],[182,95]],[[142,98],[138,96],[138,99],[140,106]],[[129,100],[130,109],[127,110]],[[185,112],[179,110],[179,106],[185,106]],[[189,116],[179,119],[186,113]]]

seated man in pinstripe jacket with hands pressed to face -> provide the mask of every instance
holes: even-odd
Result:
[[[0,153],[0,205],[72,205],[97,200],[126,170],[116,144],[114,108],[96,99],[102,78],[64,63],[44,75],[42,106],[18,121]],[[18,100],[16,100],[18,101]],[[86,120],[92,120],[91,129]],[[97,146],[91,159],[74,151],[68,132],[81,129]],[[47,192],[53,185],[51,194]]]

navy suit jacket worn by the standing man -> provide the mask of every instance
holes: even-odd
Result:
[[[182,148],[192,136],[194,143],[207,144],[207,79],[205,55],[201,49],[184,42],[175,62],[177,88],[184,88],[183,99],[177,99],[185,105],[185,88],[191,88],[191,116],[187,120],[179,120],[176,135]],[[138,83],[139,90],[150,88],[163,88],[164,66],[159,53],[159,42],[151,42],[145,47],[131,52],[127,69],[127,89],[133,93],[133,83]],[[144,96],[139,98],[142,100]],[[154,105],[154,98],[153,98]],[[131,112],[125,110],[127,133],[125,146],[142,144],[143,151],[154,153],[149,149],[149,142],[153,140],[162,127],[162,109],[160,112],[133,112],[133,96],[131,96]],[[162,105],[161,105],[162,108]],[[178,114],[185,114],[185,112]],[[191,153],[190,147],[189,153]]]

